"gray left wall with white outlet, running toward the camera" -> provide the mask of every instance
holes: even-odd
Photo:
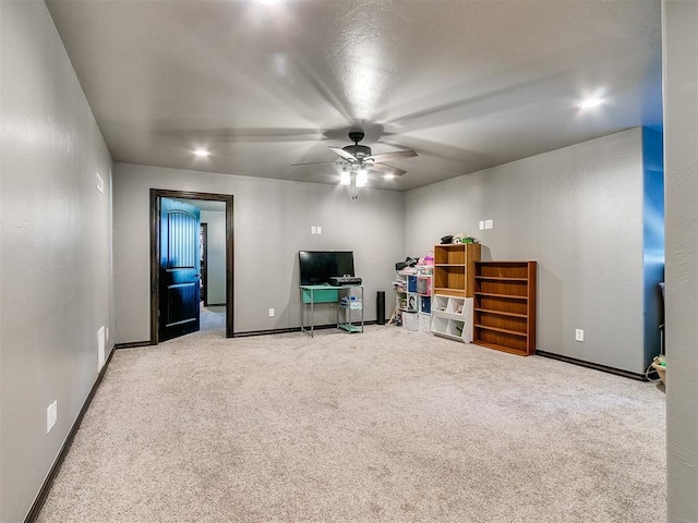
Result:
[[[111,158],[44,2],[2,1],[0,24],[0,521],[15,523],[97,378],[97,330],[113,333]]]

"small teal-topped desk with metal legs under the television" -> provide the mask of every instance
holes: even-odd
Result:
[[[356,291],[358,295],[354,294]],[[345,303],[342,299],[348,304],[347,307],[341,306]],[[347,332],[363,332],[363,285],[301,285],[301,330],[311,338],[314,335],[316,303],[337,303],[337,328]],[[310,329],[305,328],[305,311],[309,305]],[[361,313],[360,326],[352,321],[354,312]]]

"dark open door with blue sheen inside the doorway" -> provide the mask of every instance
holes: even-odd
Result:
[[[160,198],[159,341],[198,330],[201,211]]]

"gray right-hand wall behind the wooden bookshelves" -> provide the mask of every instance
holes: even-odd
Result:
[[[537,260],[538,349],[641,373],[642,193],[634,129],[408,192],[406,251],[466,232],[484,259]]]

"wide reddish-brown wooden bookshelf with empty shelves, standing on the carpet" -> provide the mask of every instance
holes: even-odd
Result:
[[[535,353],[535,262],[474,262],[473,343]]]

